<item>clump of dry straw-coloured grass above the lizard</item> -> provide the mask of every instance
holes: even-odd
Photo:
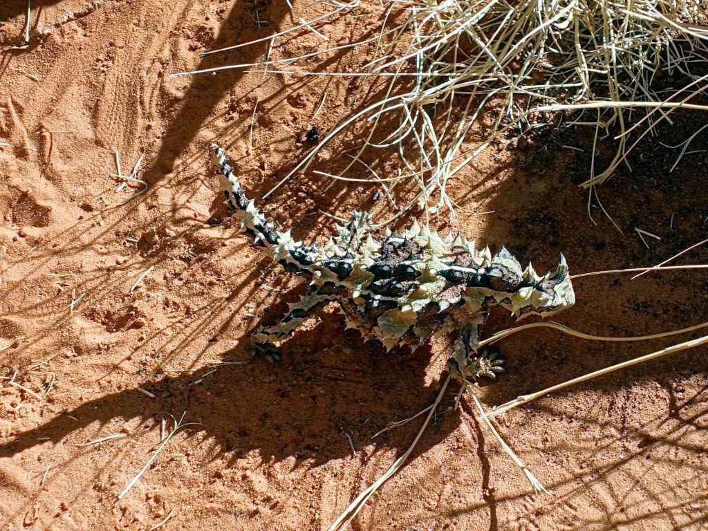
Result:
[[[333,13],[356,6],[337,4]],[[659,120],[670,120],[673,110],[708,110],[698,98],[707,76],[696,73],[697,63],[708,57],[706,13],[700,0],[390,2],[378,35],[365,42],[234,67],[355,75],[372,84],[383,79],[385,88],[342,118],[286,179],[307,169],[329,139],[363,127],[365,142],[338,177],[346,176],[366,149],[395,148],[403,165],[396,178],[421,185],[416,201],[404,210],[417,202],[428,205],[428,212],[442,207],[454,212],[447,181],[510,134],[562,121],[591,127],[594,145],[615,137],[614,155],[604,167],[595,164],[593,149],[582,183],[592,188],[626,163],[636,142]],[[375,57],[360,72],[297,67],[304,59],[370,42],[377,44]],[[481,139],[474,135],[472,144],[473,127],[482,117]],[[377,135],[384,120],[397,127]]]

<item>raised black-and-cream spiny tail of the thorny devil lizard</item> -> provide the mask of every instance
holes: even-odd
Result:
[[[241,232],[249,234],[254,244],[264,247],[270,257],[283,267],[295,273],[307,273],[318,254],[316,244],[304,246],[302,241],[292,238],[290,230],[279,232],[275,224],[258,210],[255,202],[246,197],[246,190],[241,188],[224,149],[212,144],[211,152],[224,197],[241,225]]]

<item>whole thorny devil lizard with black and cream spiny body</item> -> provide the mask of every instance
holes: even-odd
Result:
[[[420,227],[388,232],[383,243],[370,234],[375,228],[368,212],[354,212],[338,236],[324,246],[295,241],[246,198],[224,149],[212,144],[212,156],[224,196],[241,231],[265,248],[285,270],[309,279],[309,291],[280,323],[258,329],[253,351],[278,358],[275,342],[287,338],[308,316],[337,302],[347,328],[365,340],[378,340],[387,350],[408,345],[415,349],[433,333],[457,332],[448,362],[450,372],[465,381],[501,372],[496,355],[477,352],[481,326],[491,305],[523,318],[548,316],[575,302],[568,265],[560,255],[554,273],[539,276],[531,264],[521,268],[504,247],[491,256],[477,250],[464,236],[443,239]]]

